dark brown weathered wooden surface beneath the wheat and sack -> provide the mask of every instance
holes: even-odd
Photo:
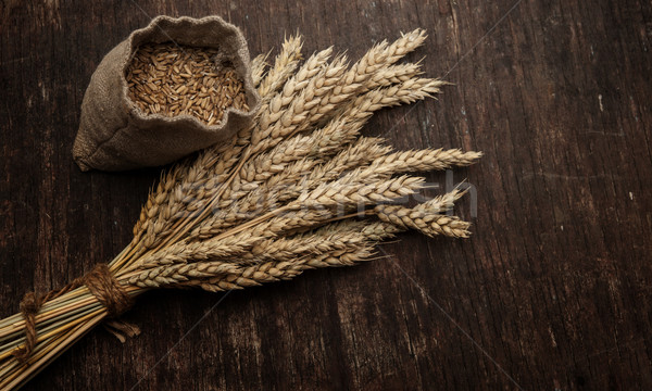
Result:
[[[0,2],[0,315],[115,255],[159,169],[80,173],[79,105],[113,46],[159,14],[217,14],[253,54],[301,31],[359,58],[428,29],[439,101],[380,112],[398,148],[482,150],[469,240],[228,294],[162,291],[26,390],[651,389],[652,5],[591,1]],[[391,129],[391,131],[387,131]],[[429,179],[443,187],[446,176]]]

